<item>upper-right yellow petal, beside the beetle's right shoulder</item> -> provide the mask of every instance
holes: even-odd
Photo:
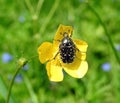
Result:
[[[87,51],[88,44],[85,41],[75,39],[74,43],[75,43],[77,49],[79,49],[81,53],[82,52],[84,53]]]

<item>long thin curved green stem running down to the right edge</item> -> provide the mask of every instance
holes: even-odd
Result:
[[[108,31],[107,31],[107,28],[106,28],[106,26],[105,26],[105,23],[102,21],[102,19],[100,18],[99,14],[95,11],[95,9],[94,9],[92,6],[90,6],[88,2],[86,2],[86,4],[87,4],[87,6],[89,7],[89,9],[94,13],[94,15],[98,18],[99,22],[101,23],[101,25],[102,25],[102,27],[103,27],[103,29],[104,29],[104,31],[105,31],[105,35],[107,36],[108,41],[109,41],[109,43],[110,43],[110,45],[111,45],[111,48],[112,48],[112,50],[113,50],[113,52],[114,52],[114,55],[115,55],[115,57],[116,57],[116,60],[117,60],[118,64],[120,65],[119,55],[118,55],[118,53],[117,53],[117,51],[116,51],[116,49],[115,49],[115,47],[114,47],[114,44],[113,44],[112,39],[111,39],[111,37],[110,37],[110,35],[109,35]]]

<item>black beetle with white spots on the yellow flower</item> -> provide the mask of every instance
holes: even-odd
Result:
[[[64,38],[59,45],[59,53],[63,63],[72,63],[75,59],[76,47],[67,33],[64,34]]]

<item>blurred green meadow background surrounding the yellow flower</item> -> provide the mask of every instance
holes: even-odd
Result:
[[[120,57],[120,0],[89,0],[100,15]],[[89,47],[84,78],[65,74],[50,82],[38,58],[15,78],[10,103],[119,103],[120,64],[103,26],[85,0],[0,0],[0,103],[5,103],[19,58],[37,55],[38,46],[53,41],[59,24],[74,27],[72,38]]]

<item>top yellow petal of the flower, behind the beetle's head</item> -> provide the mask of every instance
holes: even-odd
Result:
[[[68,36],[70,36],[73,32],[72,26],[65,26],[60,24],[55,34],[53,44],[59,47],[60,41],[63,39],[65,32],[68,34]]]

